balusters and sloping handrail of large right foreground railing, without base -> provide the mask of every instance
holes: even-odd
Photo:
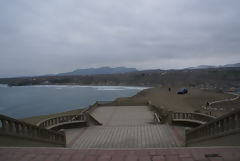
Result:
[[[186,132],[186,142],[235,133],[240,130],[240,109],[236,109],[206,124]]]

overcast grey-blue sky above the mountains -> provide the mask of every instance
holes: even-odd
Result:
[[[239,0],[0,0],[0,77],[240,62]]]

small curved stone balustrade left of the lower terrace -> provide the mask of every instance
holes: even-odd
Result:
[[[56,126],[61,126],[61,125],[67,126],[70,124],[76,124],[80,122],[87,122],[87,117],[85,114],[63,115],[63,116],[49,118],[39,122],[37,126],[44,127],[47,129],[52,129]]]

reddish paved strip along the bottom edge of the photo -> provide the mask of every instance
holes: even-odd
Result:
[[[0,148],[0,161],[239,161],[240,147],[167,149]]]

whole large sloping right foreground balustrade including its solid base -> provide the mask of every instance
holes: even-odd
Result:
[[[230,141],[232,141],[234,145],[239,145],[239,135],[240,109],[236,109],[204,125],[186,131],[186,145],[203,145],[204,141],[206,142],[204,145],[208,145],[214,139],[215,142],[212,143],[214,145],[227,145]],[[232,139],[234,137],[235,139]],[[217,138],[221,139],[216,141]],[[224,138],[227,138],[225,142],[223,142]],[[193,144],[197,142],[201,144]]]

